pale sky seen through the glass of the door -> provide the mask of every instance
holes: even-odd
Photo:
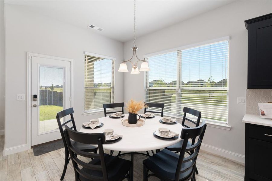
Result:
[[[40,86],[63,85],[63,68],[40,66]]]

